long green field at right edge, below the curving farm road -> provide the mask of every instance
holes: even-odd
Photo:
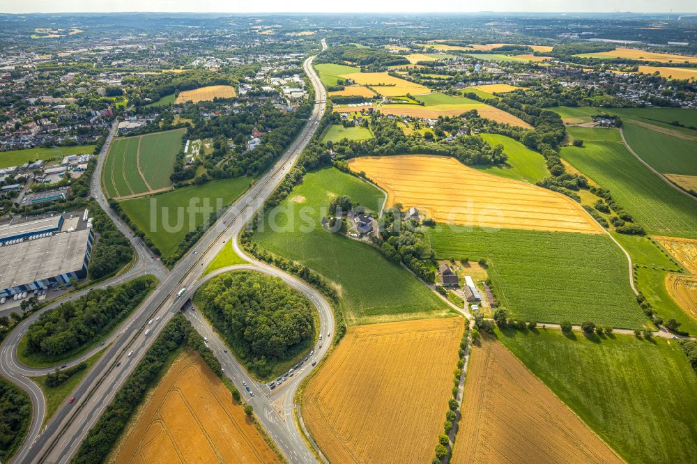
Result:
[[[615,201],[648,233],[697,238],[697,201],[673,190],[623,144],[588,141],[584,145],[566,146],[560,155],[610,190]]]

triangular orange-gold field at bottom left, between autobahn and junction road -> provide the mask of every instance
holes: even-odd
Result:
[[[199,355],[182,353],[109,460],[113,463],[280,463]]]

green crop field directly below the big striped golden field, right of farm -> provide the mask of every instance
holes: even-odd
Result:
[[[515,318],[650,326],[629,286],[627,258],[607,235],[449,226],[428,235],[437,258],[486,259],[496,297]]]

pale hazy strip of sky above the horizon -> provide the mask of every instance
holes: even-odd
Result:
[[[75,12],[181,12],[181,13],[475,13],[558,12],[558,13],[662,13],[673,10],[689,13],[697,10],[694,0],[498,0],[487,3],[463,0],[0,0],[0,13],[75,13]]]

